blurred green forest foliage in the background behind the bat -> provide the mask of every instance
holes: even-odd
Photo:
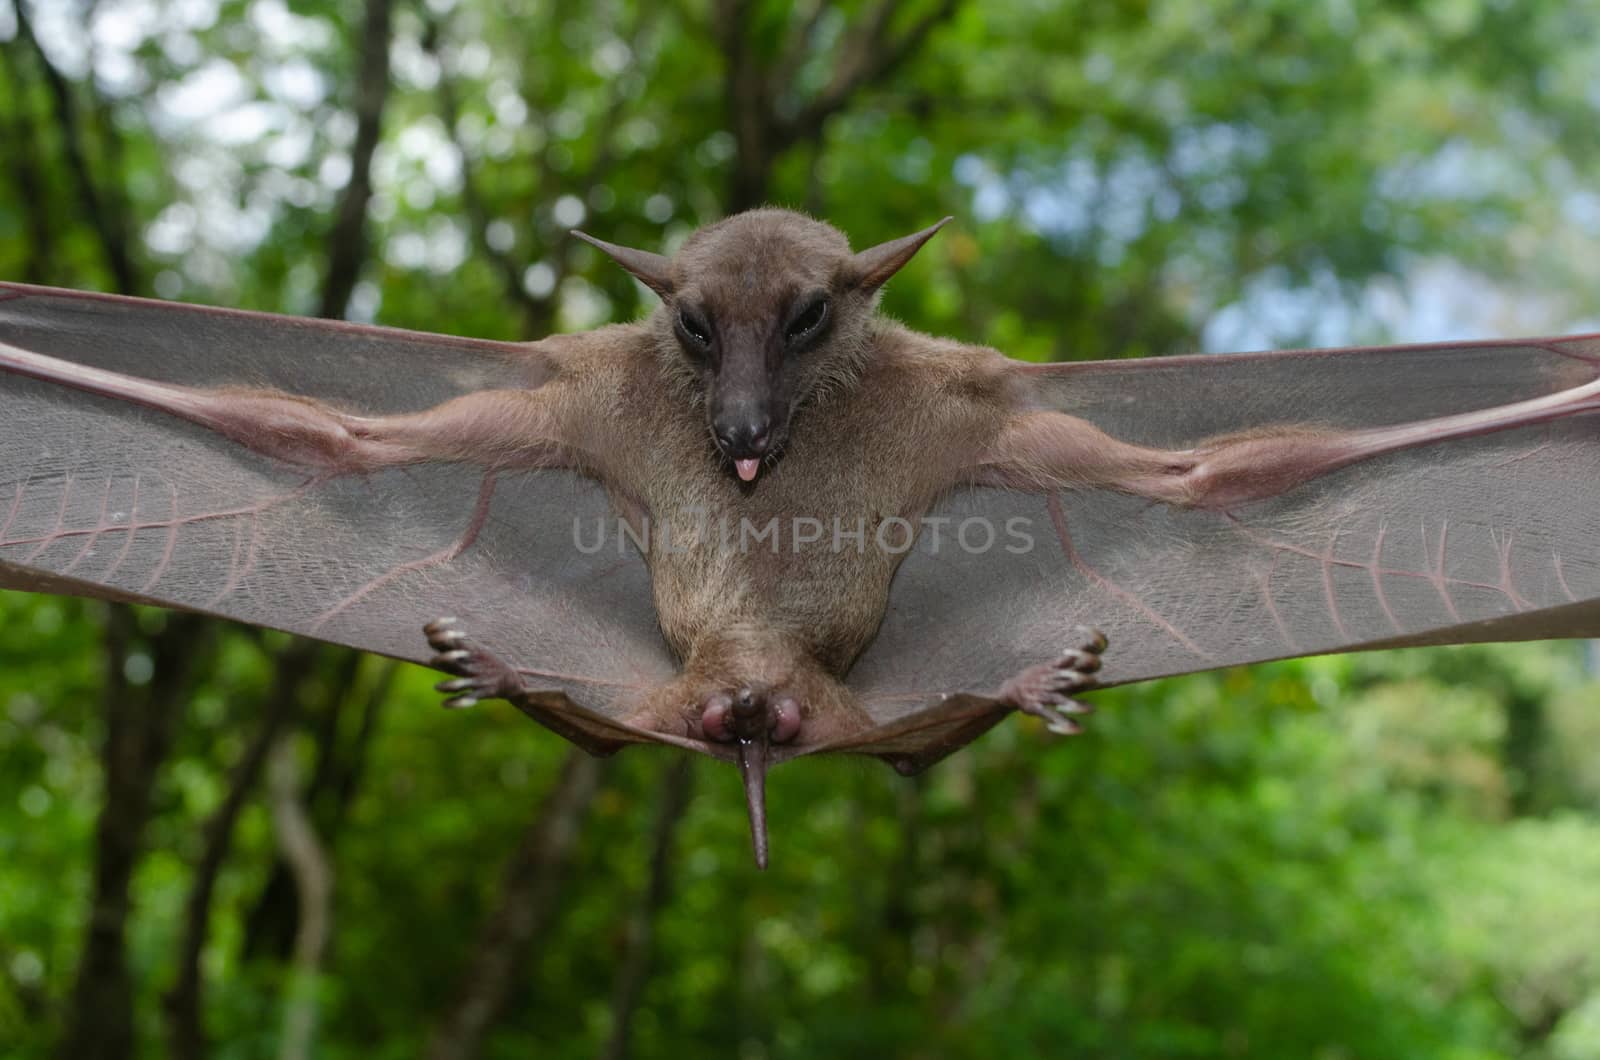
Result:
[[[315,311],[357,27],[381,2],[30,3],[46,66],[0,0],[0,277]],[[1386,307],[1437,315],[1456,288],[1502,314],[1461,328],[1594,315],[1594,3],[397,0],[390,16],[355,317],[485,336],[629,317],[645,295],[565,229],[670,247],[750,195],[858,243],[955,213],[886,309],[1019,357],[1379,338],[1408,320]],[[6,1057],[51,1055],[72,1030],[118,709],[106,674],[152,681],[144,640],[107,647],[107,612],[0,594]],[[144,1055],[166,1047],[205,823],[283,639],[226,629],[202,650],[131,881]],[[342,809],[309,799],[336,871],[315,1055],[411,1057],[568,751],[499,703],[438,711],[416,669],[363,737],[355,705],[382,663],[341,666],[314,661],[291,727],[302,772],[358,767]],[[736,775],[696,764],[637,1002],[621,982],[670,759],[606,762],[482,1055],[595,1055],[624,1009],[637,1057],[1600,1055],[1584,645],[1290,661],[1096,703],[1080,738],[1006,722],[915,780],[778,770],[766,874]],[[202,959],[227,1058],[277,1054],[288,977],[251,791]]]

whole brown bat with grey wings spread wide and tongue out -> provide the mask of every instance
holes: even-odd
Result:
[[[947,221],[949,218],[946,218]],[[928,767],[1096,685],[1600,636],[1600,336],[1034,365],[757,210],[493,343],[0,285],[0,586],[451,676],[594,754]],[[1110,644],[1112,647],[1107,647]]]

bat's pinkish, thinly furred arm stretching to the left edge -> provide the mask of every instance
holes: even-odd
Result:
[[[491,468],[578,463],[539,391],[478,391],[419,413],[357,416],[267,389],[190,387],[58,360],[0,343],[0,371],[155,408],[272,460],[322,472],[426,461]]]

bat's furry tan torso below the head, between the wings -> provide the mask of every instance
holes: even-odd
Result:
[[[712,684],[752,684],[755,674],[738,671],[758,660],[843,677],[883,618],[909,544],[902,527],[973,472],[970,455],[1000,405],[992,365],[982,378],[984,351],[952,346],[928,363],[893,325],[870,341],[861,386],[798,416],[782,458],[754,484],[728,474],[699,415],[659,399],[637,410],[643,437],[672,440],[638,453],[629,461],[638,471],[613,484],[651,519],[662,632],[691,671],[707,661]],[[949,392],[947,378],[963,386]],[[882,407],[885,394],[894,408]],[[842,685],[827,695],[837,711],[802,697],[818,716],[808,740],[867,727]]]

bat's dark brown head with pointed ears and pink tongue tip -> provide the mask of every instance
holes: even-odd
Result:
[[[694,232],[672,258],[574,232],[661,295],[654,317],[739,479],[789,440],[806,402],[861,375],[878,290],[944,223],[851,253],[830,224],[752,210]]]

